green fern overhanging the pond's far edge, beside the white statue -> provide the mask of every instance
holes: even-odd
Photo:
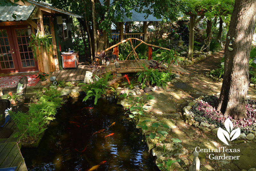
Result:
[[[91,99],[94,96],[94,105],[96,105],[101,95],[106,94],[106,89],[109,88],[107,86],[109,76],[110,75],[106,73],[105,77],[100,78],[98,81],[95,81],[92,84],[80,83],[79,85],[82,85],[81,89],[83,89],[86,93],[83,102],[85,102],[89,98]]]

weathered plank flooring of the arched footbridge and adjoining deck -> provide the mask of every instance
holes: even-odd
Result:
[[[98,73],[97,71],[94,71],[93,74],[100,75],[106,72],[113,73],[135,73],[139,71],[143,71],[144,67],[148,68],[150,65],[150,60],[122,60],[117,61],[116,64],[110,63],[108,66],[106,64],[103,66],[104,69],[100,70]],[[92,72],[91,67],[87,65],[83,65],[80,63],[76,69],[66,69],[62,71],[54,71],[51,76],[55,76],[57,81],[75,81],[75,80],[84,80],[85,72],[90,71]],[[167,70],[168,68],[165,65],[160,65],[159,71]],[[172,65],[172,72],[180,73],[180,74],[189,74],[186,70],[183,68]]]

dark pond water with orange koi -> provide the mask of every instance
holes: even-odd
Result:
[[[139,130],[125,119],[124,113],[122,107],[105,99],[97,105],[92,101],[84,103],[82,98],[75,104],[67,102],[39,147],[21,149],[28,170],[84,171],[102,161],[106,162],[98,171],[158,170]],[[113,122],[115,125],[109,127]],[[95,133],[101,129],[105,130]]]

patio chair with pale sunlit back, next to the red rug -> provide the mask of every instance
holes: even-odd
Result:
[[[25,95],[26,95],[26,89],[28,84],[28,78],[26,76],[23,76],[20,78],[19,83],[16,85],[16,87],[13,88],[7,88],[3,89],[3,96],[2,99],[4,99],[5,95],[7,95],[10,91],[12,93],[16,93],[18,97],[18,101],[23,102],[25,101]]]

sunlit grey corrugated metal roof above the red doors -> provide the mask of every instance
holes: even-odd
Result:
[[[0,6],[0,21],[19,21],[19,20],[27,20],[30,14],[34,10],[33,5],[29,6]],[[16,19],[12,17],[13,14],[17,14],[20,17],[16,15]]]

